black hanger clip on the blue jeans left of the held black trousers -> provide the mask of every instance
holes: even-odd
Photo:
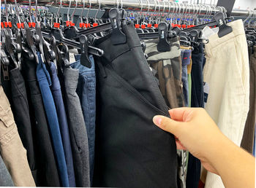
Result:
[[[80,39],[80,50],[81,50],[81,58],[80,63],[83,66],[91,68],[91,61],[89,60],[89,44],[87,37],[85,35],[81,35]]]

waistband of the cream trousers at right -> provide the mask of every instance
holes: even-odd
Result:
[[[227,23],[227,26],[230,26],[233,31],[230,34],[222,36],[221,38],[219,38],[218,34],[214,34],[210,36],[209,42],[208,44],[206,44],[206,49],[217,47],[219,44],[225,43],[228,40],[233,39],[238,35],[245,35],[244,23],[241,19]]]

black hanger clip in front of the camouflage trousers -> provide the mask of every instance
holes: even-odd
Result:
[[[167,42],[167,35],[168,35],[167,23],[159,23],[158,34],[159,34],[159,42],[157,44],[157,50],[159,52],[170,51],[170,43]]]

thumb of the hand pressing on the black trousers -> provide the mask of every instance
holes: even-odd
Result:
[[[181,123],[165,116],[154,116],[153,122],[162,130],[172,133],[173,135],[176,135],[178,125]]]

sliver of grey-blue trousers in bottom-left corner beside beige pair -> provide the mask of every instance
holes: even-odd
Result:
[[[13,187],[12,177],[0,155],[0,185],[1,187]]]

